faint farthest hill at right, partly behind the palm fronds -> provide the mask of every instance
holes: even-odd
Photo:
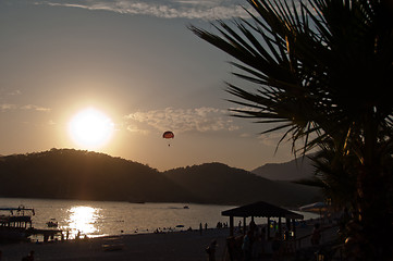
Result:
[[[312,161],[305,157],[284,163],[268,163],[251,172],[271,181],[297,181],[314,175]]]

